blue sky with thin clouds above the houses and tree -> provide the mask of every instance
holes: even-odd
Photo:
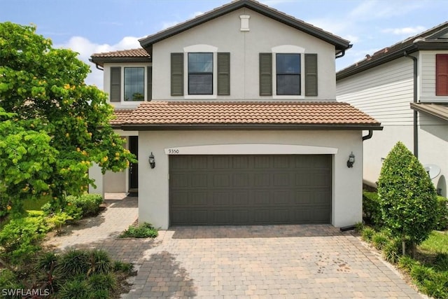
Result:
[[[55,47],[71,48],[89,63],[92,53],[139,47],[137,39],[230,0],[0,0],[0,22],[34,24]],[[353,48],[336,69],[448,21],[446,0],[266,0],[283,13],[348,39]],[[102,88],[90,64],[86,82]]]

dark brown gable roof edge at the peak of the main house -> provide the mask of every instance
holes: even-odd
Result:
[[[264,6],[262,4],[258,4],[254,1],[234,1],[226,6],[221,8],[216,8],[214,11],[210,11],[209,13],[205,13],[204,15],[200,15],[190,21],[183,22],[180,25],[174,26],[169,29],[165,29],[162,32],[157,34],[153,34],[151,36],[147,36],[144,39],[139,39],[140,45],[145,48],[149,53],[151,53],[152,45],[157,43],[158,41],[162,41],[163,39],[167,39],[171,36],[184,32],[188,29],[196,27],[197,25],[201,25],[204,22],[208,22],[209,20],[213,20],[215,18],[220,17],[221,15],[225,15],[226,13],[230,13],[232,11],[236,11],[239,8],[249,8],[252,11],[265,15],[269,18],[282,22],[288,26],[291,26],[295,29],[300,29],[307,34],[311,34],[312,36],[317,37],[318,39],[322,39],[328,43],[331,43],[335,46],[336,50],[347,50],[351,47],[350,42],[345,39],[339,38],[338,36],[333,36],[332,34],[323,31],[322,29],[318,29],[317,27],[307,25],[305,22],[297,22],[293,18],[290,18],[288,15],[280,13],[279,11],[275,11],[268,6]]]

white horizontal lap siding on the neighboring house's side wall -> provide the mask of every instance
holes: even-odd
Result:
[[[406,57],[337,81],[337,101],[370,114],[381,125],[412,125],[413,71]]]

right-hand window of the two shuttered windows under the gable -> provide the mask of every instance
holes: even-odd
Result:
[[[300,95],[300,54],[276,54],[276,94]]]

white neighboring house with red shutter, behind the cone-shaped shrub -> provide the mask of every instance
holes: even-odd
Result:
[[[381,122],[384,130],[365,141],[364,179],[374,185],[381,161],[402,141],[447,196],[448,22],[366,55],[338,71],[337,100]]]

